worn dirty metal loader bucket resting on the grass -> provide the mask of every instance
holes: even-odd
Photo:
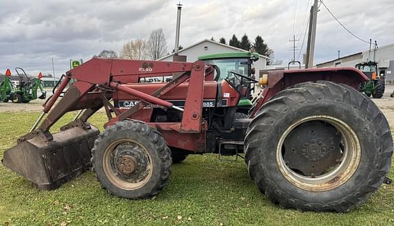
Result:
[[[36,137],[4,152],[1,162],[41,190],[59,188],[91,166],[90,149],[99,129],[73,127],[53,134],[53,140]]]

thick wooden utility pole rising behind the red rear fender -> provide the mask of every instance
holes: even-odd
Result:
[[[316,25],[317,25],[317,3],[315,0],[311,8],[311,17],[309,19],[308,45],[306,47],[306,68],[313,67],[313,57],[315,55]]]

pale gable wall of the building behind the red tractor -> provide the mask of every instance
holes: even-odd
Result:
[[[187,55],[187,62],[195,62],[200,55],[216,54],[216,53],[233,53],[237,50],[225,47],[223,45],[217,45],[212,42],[201,42],[199,45],[185,49],[179,53],[179,55]],[[162,59],[163,61],[172,61],[172,55]],[[265,58],[259,58],[257,62],[254,62],[256,71],[265,68]]]

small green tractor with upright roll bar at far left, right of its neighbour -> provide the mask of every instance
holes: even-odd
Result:
[[[38,78],[30,79],[23,68],[15,68],[16,74],[19,76],[19,86],[12,92],[12,102],[14,103],[29,103],[34,99],[47,98],[47,92],[42,88],[42,74]],[[41,91],[40,97],[37,97],[38,88]]]

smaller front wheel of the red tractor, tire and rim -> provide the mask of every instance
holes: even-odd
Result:
[[[140,121],[107,127],[92,149],[93,170],[103,188],[127,199],[159,193],[168,181],[171,163],[163,136]]]

